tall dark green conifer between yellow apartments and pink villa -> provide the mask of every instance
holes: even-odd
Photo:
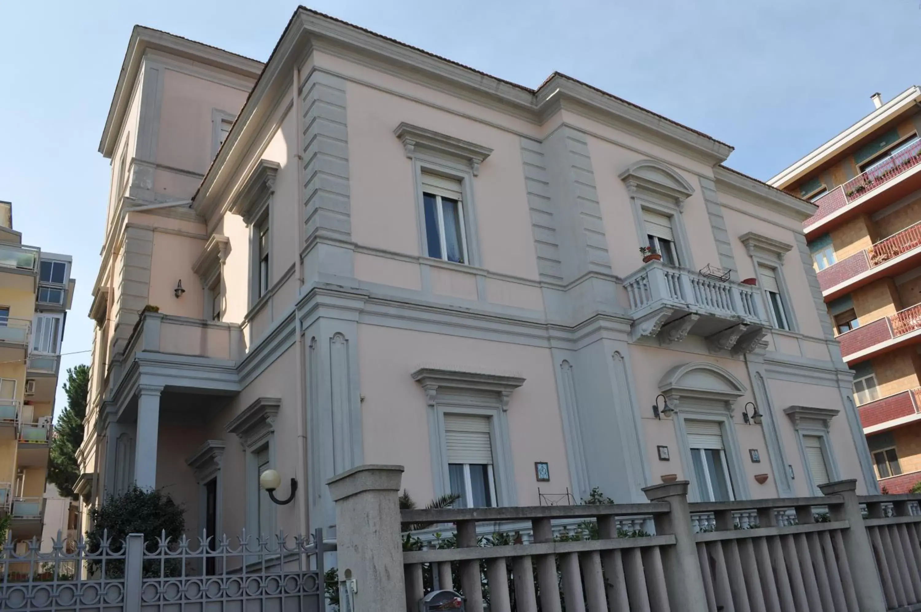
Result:
[[[87,416],[89,367],[78,365],[67,369],[67,406],[54,425],[54,440],[49,453],[48,482],[55,485],[64,497],[76,500],[74,485],[80,476],[76,463],[76,450],[83,443],[83,419]]]

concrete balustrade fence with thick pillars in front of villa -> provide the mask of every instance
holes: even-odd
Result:
[[[858,498],[845,480],[823,485],[822,497],[689,504],[687,482],[676,482],[646,488],[643,504],[400,512],[399,469],[356,468],[336,481],[338,533],[378,553],[339,541],[355,610],[415,612],[442,589],[459,592],[468,612],[921,609],[921,496]],[[618,529],[637,516],[648,530]],[[577,528],[561,534],[560,521]],[[415,537],[432,524],[440,538]],[[512,524],[530,524],[530,535]],[[402,559],[402,576],[380,559]]]

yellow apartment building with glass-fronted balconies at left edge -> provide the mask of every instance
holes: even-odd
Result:
[[[17,545],[41,537],[71,257],[22,243],[0,202],[0,512]]]

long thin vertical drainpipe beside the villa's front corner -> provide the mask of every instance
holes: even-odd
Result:
[[[297,208],[297,298],[300,300],[300,289],[304,287],[304,261],[300,256],[300,236],[303,229],[303,220],[301,219],[301,202],[300,202],[300,189],[301,185],[304,184],[303,177],[303,157],[300,153],[300,136],[301,136],[301,104],[300,104],[300,67],[294,66],[294,81],[291,84],[291,98],[292,98],[292,112],[294,112],[294,126],[295,126],[295,135],[294,135],[294,144],[295,152],[292,160],[297,164],[297,190],[295,192],[295,207]],[[296,345],[297,345],[297,467],[295,468],[295,474],[297,475],[297,482],[301,483],[301,486],[297,488],[297,505],[298,505],[298,520],[300,535],[307,537],[308,534],[308,523],[307,523],[307,502],[308,502],[308,482],[307,482],[307,425],[304,423],[304,419],[307,418],[307,411],[304,410],[304,384],[305,384],[305,373],[304,373],[304,330],[301,328],[300,324],[300,313],[295,309],[295,334],[296,334]],[[299,474],[298,474],[299,472]],[[319,546],[319,544],[318,544]]]

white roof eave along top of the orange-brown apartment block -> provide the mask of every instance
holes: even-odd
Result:
[[[905,89],[898,96],[880,106],[879,109],[869,113],[869,115],[848,127],[844,132],[834,136],[822,147],[811,151],[809,155],[772,176],[767,180],[767,183],[778,189],[788,187],[919,101],[921,101],[921,88],[915,85]]]

